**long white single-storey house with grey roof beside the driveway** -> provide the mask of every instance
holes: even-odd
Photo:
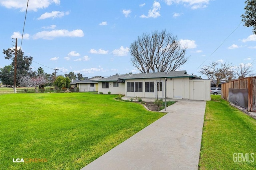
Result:
[[[98,80],[98,92],[127,97],[210,100],[210,82],[186,71],[123,74]]]

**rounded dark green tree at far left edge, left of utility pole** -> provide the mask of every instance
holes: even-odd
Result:
[[[0,80],[3,84],[13,85],[14,80],[14,69],[13,66],[8,65],[4,68],[0,68]]]

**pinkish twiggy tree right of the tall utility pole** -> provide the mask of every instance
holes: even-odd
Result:
[[[42,86],[49,83],[48,79],[43,74],[38,74],[37,76],[34,76],[34,77],[25,76],[22,74],[18,77],[18,82],[20,86],[34,87],[36,90],[36,93],[38,92],[37,86]]]

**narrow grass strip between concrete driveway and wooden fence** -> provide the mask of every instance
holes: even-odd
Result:
[[[256,169],[256,120],[220,96],[211,98],[206,104],[199,169]],[[242,160],[241,153],[249,156]]]

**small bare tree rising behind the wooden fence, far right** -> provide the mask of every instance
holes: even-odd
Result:
[[[239,78],[245,78],[245,77],[251,77],[255,76],[255,73],[252,70],[252,63],[244,64],[240,63],[238,66],[234,66],[234,77]]]

